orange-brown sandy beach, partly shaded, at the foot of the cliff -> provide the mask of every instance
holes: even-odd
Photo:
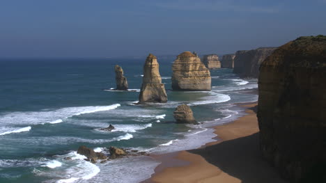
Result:
[[[246,116],[215,127],[219,141],[196,150],[153,156],[162,164],[144,182],[286,182],[261,157],[256,103],[241,106]]]

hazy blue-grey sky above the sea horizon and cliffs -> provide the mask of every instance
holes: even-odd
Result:
[[[326,34],[326,0],[0,0],[0,58],[231,54]]]

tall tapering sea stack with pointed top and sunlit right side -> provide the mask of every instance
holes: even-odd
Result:
[[[149,54],[143,65],[143,84],[139,94],[139,104],[146,102],[167,102],[167,95],[159,72],[156,56]]]

